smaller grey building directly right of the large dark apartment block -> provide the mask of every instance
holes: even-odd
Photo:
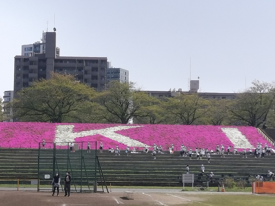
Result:
[[[122,68],[113,68],[111,63],[107,63],[107,82],[119,81],[120,83],[129,82],[129,71]]]

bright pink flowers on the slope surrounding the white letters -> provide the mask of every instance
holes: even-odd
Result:
[[[97,130],[110,128],[115,126],[126,126],[119,124],[68,124],[68,123],[32,123],[32,122],[2,122],[0,123],[0,146],[4,148],[38,148],[38,143],[44,139],[46,148],[53,147],[53,141],[55,139],[56,125],[74,125],[73,132],[82,132],[88,130]],[[135,126],[135,125],[127,125]],[[211,126],[211,125],[138,125],[142,127],[122,129],[116,133],[130,137],[141,143],[147,144],[152,147],[155,143],[158,146],[163,146],[166,150],[171,144],[174,144],[175,150],[180,150],[181,144],[188,149],[194,150],[196,147],[215,149],[216,145],[223,144],[227,149],[227,146],[234,146],[228,139],[226,134],[222,132],[221,127],[225,128],[238,128],[239,131],[248,139],[252,146],[255,146],[258,142],[268,143],[266,139],[256,128],[253,127],[236,127],[236,126]],[[116,148],[124,151],[126,149],[125,144],[118,143],[115,140],[101,136],[99,134],[94,136],[85,136],[75,138],[75,142],[97,142],[97,149],[100,142],[103,143],[104,149],[109,147]],[[83,148],[86,149],[86,144],[83,143]],[[81,143],[80,143],[81,145]],[[270,143],[268,143],[270,145]],[[60,146],[66,148],[66,146]],[[95,148],[95,144],[91,143],[91,148]],[[132,149],[133,147],[130,147]],[[136,148],[137,149],[137,148]],[[139,147],[140,149],[140,147]],[[143,148],[142,148],[143,149]],[[237,148],[243,149],[243,148]],[[248,149],[248,148],[245,148]]]

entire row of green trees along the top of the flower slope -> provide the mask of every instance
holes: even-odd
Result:
[[[10,105],[14,118],[53,123],[275,124],[275,90],[266,82],[253,81],[251,88],[232,100],[203,99],[196,93],[160,100],[140,91],[133,82],[112,81],[105,91],[96,92],[73,76],[51,75],[51,79],[35,81],[18,92],[19,97]]]

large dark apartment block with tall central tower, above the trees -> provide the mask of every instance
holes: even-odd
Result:
[[[107,57],[59,56],[55,32],[43,33],[42,42],[37,44],[40,46],[40,52],[36,52],[39,46],[35,49],[35,45],[23,45],[26,46],[24,48],[33,48],[28,51],[33,52],[33,55],[24,53],[14,57],[14,97],[16,92],[30,86],[32,81],[50,79],[52,71],[74,75],[76,81],[88,84],[97,91],[105,89]]]

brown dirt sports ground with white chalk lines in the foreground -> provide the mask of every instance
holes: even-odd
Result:
[[[162,205],[162,206],[185,206],[185,205],[216,205],[214,202],[208,202],[211,196],[214,199],[218,195],[224,198],[231,195],[226,193],[219,193],[212,195],[207,193],[183,193],[183,192],[145,192],[134,193],[134,200],[127,200],[123,198],[123,193],[110,192],[108,193],[71,193],[70,197],[64,197],[64,193],[59,193],[59,197],[52,196],[51,192],[29,192],[29,191],[0,191],[0,205],[1,206],[105,206],[105,205],[123,205],[123,206],[149,206],[149,205]],[[56,195],[56,194],[55,194]],[[225,196],[224,196],[225,195]],[[246,198],[259,196],[252,194],[243,194]],[[224,197],[221,197],[224,196]],[[242,196],[241,194],[237,196]],[[218,198],[218,199],[220,199]],[[245,197],[241,197],[245,198]],[[260,197],[270,198],[270,197]],[[262,201],[262,200],[261,200]],[[270,201],[275,201],[271,197]],[[217,204],[220,205],[220,204]],[[245,204],[244,204],[245,205]],[[250,205],[251,204],[250,201]],[[257,203],[257,205],[259,205]]]

